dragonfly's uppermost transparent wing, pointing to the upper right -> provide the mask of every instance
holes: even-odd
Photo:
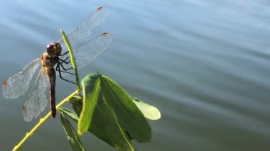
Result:
[[[72,30],[67,36],[70,40],[70,45],[74,47],[77,43],[88,38],[92,32],[92,29],[99,26],[105,18],[109,15],[109,9],[107,7],[99,7],[94,13],[92,13],[84,22],[82,22],[77,28]],[[65,45],[63,38],[57,41],[61,46]]]

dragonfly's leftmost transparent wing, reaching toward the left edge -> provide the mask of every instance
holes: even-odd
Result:
[[[26,93],[28,86],[31,82],[33,74],[41,67],[41,61],[39,58],[30,62],[21,72],[13,75],[3,84],[3,96],[5,98],[17,98]]]

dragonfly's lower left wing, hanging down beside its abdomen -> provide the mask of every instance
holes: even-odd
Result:
[[[33,90],[28,95],[26,103],[23,105],[24,121],[30,122],[33,118],[37,118],[47,106],[46,89],[49,84],[49,79],[46,74],[39,72]]]

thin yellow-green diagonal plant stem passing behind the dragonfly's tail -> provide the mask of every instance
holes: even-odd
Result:
[[[65,104],[65,102],[69,101],[73,96],[75,96],[77,94],[77,90],[74,91],[72,94],[70,94],[70,96],[68,96],[67,98],[63,99],[63,101],[61,101],[57,106],[56,109],[58,109],[60,106],[62,106],[63,104]],[[28,140],[28,138],[30,138],[31,135],[33,135],[33,133],[43,124],[45,123],[45,121],[48,120],[48,118],[50,117],[50,112],[44,117],[41,118],[41,120],[35,125],[35,127],[32,128],[32,130],[28,133],[26,133],[26,136],[24,136],[24,138],[21,140],[21,142],[18,143],[18,145],[16,145],[13,148],[13,151],[18,150],[21,145],[23,145],[24,142],[26,142],[26,140]]]

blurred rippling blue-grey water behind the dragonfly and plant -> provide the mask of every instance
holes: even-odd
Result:
[[[151,142],[134,142],[137,150],[269,150],[268,0],[0,1],[1,81],[99,6],[110,15],[93,36],[108,32],[114,41],[80,76],[98,70],[160,109],[161,120],[149,121]],[[74,90],[58,78],[58,102]],[[23,121],[27,93],[0,95],[1,150],[38,122]],[[92,134],[82,142],[87,150],[114,150]],[[23,150],[70,150],[59,113]]]

